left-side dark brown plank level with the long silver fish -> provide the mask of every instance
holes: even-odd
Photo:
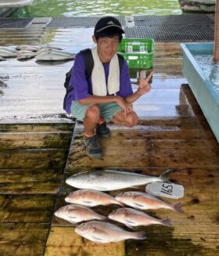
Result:
[[[0,170],[0,193],[56,194],[62,177],[63,170]]]

